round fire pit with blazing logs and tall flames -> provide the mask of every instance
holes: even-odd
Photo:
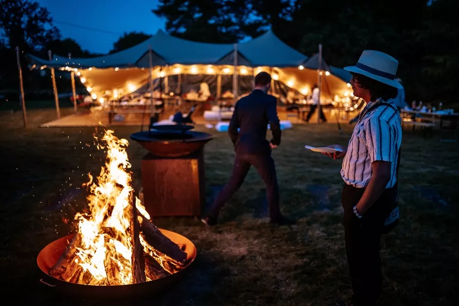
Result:
[[[106,131],[98,144],[107,162],[89,189],[88,210],[75,215],[75,234],[48,244],[37,264],[41,282],[79,296],[139,296],[164,289],[196,257],[187,238],[160,230],[134,195],[129,143]]]

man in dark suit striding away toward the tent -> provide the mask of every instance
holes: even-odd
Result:
[[[295,224],[294,220],[283,217],[279,210],[279,188],[271,150],[281,144],[281,125],[277,117],[276,98],[266,93],[270,85],[271,75],[260,72],[255,77],[253,91],[236,103],[228,127],[236,151],[233,173],[230,182],[215,199],[208,216],[201,219],[206,225],[217,223],[220,209],[241,187],[250,166],[257,169],[265,182],[270,222],[281,225]],[[266,140],[268,123],[271,125],[271,141]]]

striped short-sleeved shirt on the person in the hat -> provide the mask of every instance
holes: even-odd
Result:
[[[367,187],[375,161],[391,162],[391,179],[386,188],[397,181],[397,159],[401,144],[402,129],[400,114],[389,106],[380,106],[366,113],[382,99],[370,101],[359,116],[354,127],[347,153],[343,160],[341,176],[347,185]],[[395,107],[393,102],[389,102]]]

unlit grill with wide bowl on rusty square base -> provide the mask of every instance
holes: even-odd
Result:
[[[212,135],[190,125],[158,125],[131,139],[148,150],[142,159],[142,189],[152,216],[199,216],[205,204],[203,147]]]

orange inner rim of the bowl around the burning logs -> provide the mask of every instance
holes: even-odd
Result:
[[[63,282],[65,284],[71,284],[71,285],[83,286],[83,287],[92,287],[92,288],[126,288],[126,286],[131,286],[132,287],[132,286],[136,286],[136,285],[151,284],[151,283],[154,283],[154,282],[158,282],[160,280],[165,280],[166,278],[173,277],[174,275],[177,275],[177,274],[183,272],[186,268],[188,268],[194,262],[194,260],[196,259],[197,249],[196,249],[196,246],[194,245],[194,243],[191,242],[191,240],[189,240],[188,238],[186,238],[183,235],[180,235],[180,234],[172,232],[172,231],[164,230],[164,228],[158,228],[158,230],[160,230],[161,233],[164,236],[166,236],[167,238],[169,238],[172,242],[178,244],[181,247],[181,249],[184,252],[187,253],[187,264],[181,270],[179,270],[179,271],[177,271],[177,272],[175,272],[173,274],[169,274],[167,276],[158,278],[158,279],[153,279],[151,281],[147,281],[147,282],[143,282],[143,283],[139,283],[139,284],[100,286],[100,285],[83,285],[83,284],[70,283],[70,282],[63,281],[62,279],[56,278],[53,275],[50,275],[49,274],[49,269],[52,268],[54,266],[54,264],[56,264],[56,262],[62,256],[62,253],[64,252],[65,247],[68,244],[68,241],[71,241],[71,239],[73,238],[75,233],[69,234],[67,236],[61,237],[59,239],[56,239],[56,240],[48,243],[38,253],[37,265],[38,265],[38,268],[43,273],[45,273],[47,276],[51,277],[52,279],[54,279],[54,280],[56,280],[58,282]],[[185,246],[184,249],[182,248],[182,245]],[[62,249],[57,249],[56,246],[63,246],[63,248]],[[55,258],[54,259],[53,258],[49,258],[49,256],[46,257],[46,253],[48,253],[48,252],[49,253],[53,253]],[[47,285],[49,285],[49,284],[47,284]],[[52,286],[52,285],[50,285],[50,286]],[[52,287],[54,287],[54,286],[52,286]]]

